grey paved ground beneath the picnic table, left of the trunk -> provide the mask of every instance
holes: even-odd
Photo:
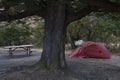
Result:
[[[33,65],[39,61],[42,50],[33,49],[31,56],[24,51],[15,52],[12,57],[7,50],[0,48],[0,73],[9,70],[10,67]]]

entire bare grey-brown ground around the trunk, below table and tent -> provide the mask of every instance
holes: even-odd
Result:
[[[4,54],[3,54],[4,53]],[[34,50],[31,56],[14,54],[9,58],[6,51],[0,50],[0,80],[119,80],[120,57],[111,59],[69,58],[66,52],[68,68],[64,70],[44,70],[30,66],[39,61],[41,51]],[[24,54],[24,53],[23,53]],[[10,68],[14,67],[14,68]],[[9,70],[10,68],[10,70]],[[12,70],[13,69],[13,70]]]

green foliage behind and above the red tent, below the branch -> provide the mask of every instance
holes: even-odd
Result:
[[[108,39],[114,40],[114,37],[120,37],[120,18],[119,15],[109,15],[102,13],[92,13],[94,18],[92,23],[91,38],[93,41],[106,42]],[[91,16],[90,15],[90,16]],[[75,21],[68,26],[68,31],[72,31],[74,36],[79,35],[83,40],[87,40],[87,34],[90,27],[90,16],[86,16],[79,21]]]

